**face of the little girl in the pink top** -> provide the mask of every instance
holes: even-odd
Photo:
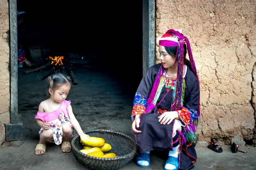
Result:
[[[70,90],[70,86],[68,84],[65,84],[65,85],[61,85],[54,92],[52,89],[49,89],[49,92],[51,94],[51,98],[54,101],[61,103],[63,100],[67,98],[69,90]]]

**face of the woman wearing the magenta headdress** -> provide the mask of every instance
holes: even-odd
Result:
[[[168,54],[164,46],[159,45],[160,60],[164,68],[169,68],[175,63],[175,59]]]

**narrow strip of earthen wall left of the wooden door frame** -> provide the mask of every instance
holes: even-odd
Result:
[[[0,0],[0,146],[5,141],[5,124],[10,123],[9,5]]]

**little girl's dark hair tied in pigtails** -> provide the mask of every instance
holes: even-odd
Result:
[[[53,90],[57,90],[60,86],[62,85],[68,85],[70,88],[72,87],[72,80],[70,76],[66,76],[62,73],[55,73],[48,78],[46,78],[47,82],[47,92],[46,92],[46,97],[47,99],[50,98],[51,94],[49,92],[49,88]]]

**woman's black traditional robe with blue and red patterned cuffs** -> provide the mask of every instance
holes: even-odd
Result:
[[[132,120],[134,120],[135,115],[141,115],[141,124],[138,130],[141,130],[142,133],[135,134],[136,142],[141,152],[172,150],[172,129],[174,121],[169,125],[161,125],[157,117],[159,116],[158,114],[163,113],[163,110],[171,111],[173,90],[167,90],[166,87],[163,87],[156,107],[151,112],[156,114],[142,115],[145,113],[147,100],[159,73],[160,66],[161,64],[155,64],[148,69],[141,80],[134,98]],[[185,66],[185,69],[183,69],[183,78],[186,83],[183,108],[176,111],[181,119],[181,121],[179,121],[182,125],[182,133],[187,142],[182,145],[181,153],[179,154],[179,168],[191,169],[194,167],[193,163],[196,162],[196,151],[190,138],[193,132],[188,133],[188,131],[191,130],[190,127],[194,126],[193,122],[197,122],[195,120],[197,120],[196,116],[199,106],[200,91],[196,75],[188,66]],[[175,121],[175,123],[176,122],[178,123],[178,121]]]

